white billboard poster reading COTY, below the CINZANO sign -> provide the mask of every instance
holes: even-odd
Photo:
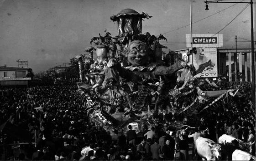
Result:
[[[217,48],[197,48],[197,54],[193,54],[193,65],[196,77],[218,77]]]

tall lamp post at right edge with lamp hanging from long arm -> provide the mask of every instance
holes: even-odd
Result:
[[[254,59],[254,38],[253,38],[253,2],[250,0],[250,2],[223,2],[223,1],[204,1],[206,3],[206,9],[209,10],[208,4],[209,3],[247,3],[251,4],[251,97],[252,97],[252,107],[255,108],[255,59]]]

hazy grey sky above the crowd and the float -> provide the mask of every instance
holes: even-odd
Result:
[[[235,35],[238,40],[251,40],[250,6],[240,13],[246,5],[209,3],[205,10],[204,0],[193,0],[193,34],[216,34],[224,28],[219,32],[224,48],[235,48]],[[104,30],[117,35],[110,16],[126,8],[152,16],[142,22],[142,33],[163,34],[168,42],[161,44],[170,50],[186,48],[189,0],[0,0],[0,66],[18,66],[18,59],[28,60],[34,73],[63,66],[84,54],[90,39],[104,35]],[[237,46],[250,45],[239,42]]]

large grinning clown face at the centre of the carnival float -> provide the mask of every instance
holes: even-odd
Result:
[[[132,41],[128,47],[128,61],[134,66],[145,65],[148,61],[148,48],[142,41]]]

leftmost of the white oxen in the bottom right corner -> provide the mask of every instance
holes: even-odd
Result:
[[[199,137],[196,140],[196,150],[198,155],[203,159],[203,161],[215,161],[216,158],[220,158],[221,146],[214,141]]]

